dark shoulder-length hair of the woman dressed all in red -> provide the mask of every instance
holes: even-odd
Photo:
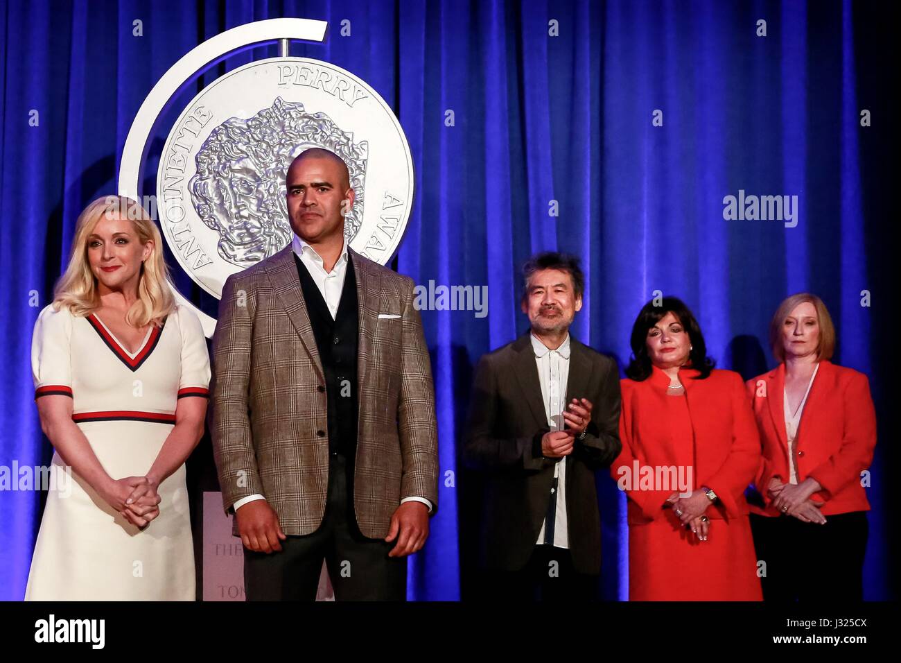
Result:
[[[651,376],[651,355],[648,355],[647,345],[648,331],[662,318],[665,318],[667,313],[676,316],[682,327],[685,327],[688,333],[688,342],[692,348],[688,353],[686,365],[700,371],[701,374],[697,377],[703,380],[714,370],[715,362],[707,356],[707,344],[704,342],[704,335],[701,334],[701,327],[698,326],[695,316],[685,302],[677,297],[664,297],[660,299],[660,304],[657,306],[654,305],[654,299],[651,299],[639,311],[638,318],[635,318],[635,324],[632,327],[632,337],[629,339],[629,345],[632,346],[632,358],[625,370],[626,377],[635,382],[642,382]]]

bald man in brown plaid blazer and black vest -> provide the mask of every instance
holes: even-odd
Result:
[[[214,456],[248,600],[404,600],[438,503],[432,370],[414,283],[350,249],[332,152],[287,173],[292,244],[223,287]]]

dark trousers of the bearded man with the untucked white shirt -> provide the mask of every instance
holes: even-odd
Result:
[[[597,577],[578,573],[567,548],[535,546],[520,571],[491,571],[483,576],[482,592],[488,601],[593,601]]]

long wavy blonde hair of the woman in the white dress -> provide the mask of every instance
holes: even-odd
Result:
[[[141,203],[125,196],[97,198],[78,215],[68,267],[53,290],[53,308],[59,310],[67,307],[73,316],[79,318],[85,318],[99,308],[97,279],[87,261],[87,238],[94,232],[97,222],[106,215],[132,221],[141,245],[153,242],[150,255],[141,263],[138,299],[125,314],[125,321],[137,328],[150,322],[160,327],[176,308],[175,295],[168,284],[168,269],[163,261],[162,236]]]

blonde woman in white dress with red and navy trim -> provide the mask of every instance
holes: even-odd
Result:
[[[194,600],[184,464],[204,432],[209,357],[130,198],[78,217],[32,372],[54,472],[72,481],[48,493],[25,599]]]

